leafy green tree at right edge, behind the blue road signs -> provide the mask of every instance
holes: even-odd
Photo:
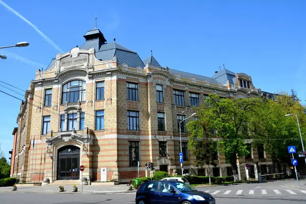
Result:
[[[296,117],[285,115],[297,113],[302,135],[305,134],[305,107],[297,98],[296,93],[291,91],[290,95],[280,93],[275,100],[262,100],[249,123],[252,138],[256,139],[253,143],[264,144],[274,164],[283,171],[284,162],[290,163],[287,146],[295,145],[297,149],[302,149]]]

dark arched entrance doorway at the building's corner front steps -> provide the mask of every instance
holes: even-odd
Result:
[[[80,179],[80,148],[68,145],[58,150],[58,180]]]

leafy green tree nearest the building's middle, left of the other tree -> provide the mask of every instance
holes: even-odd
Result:
[[[250,138],[249,119],[259,103],[259,98],[220,99],[218,95],[210,94],[197,111],[199,121],[205,129],[198,126],[194,132],[203,137],[203,132],[216,130],[218,151],[225,154],[225,160],[231,164],[236,180],[237,160],[249,154],[244,140]]]

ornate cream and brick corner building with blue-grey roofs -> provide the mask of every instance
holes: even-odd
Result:
[[[137,53],[94,28],[81,47],[58,54],[46,70],[37,70],[17,117],[12,176],[23,182],[83,180],[128,182],[155,170],[181,174],[179,121],[194,113],[210,93],[220,97],[267,97],[251,77],[220,69],[213,77],[161,66],[154,56]],[[193,118],[190,118],[192,120]],[[184,173],[207,175],[196,167],[182,122]],[[263,147],[241,158],[241,180],[269,171]],[[230,164],[216,154],[214,176],[232,175]],[[246,169],[245,164],[251,165]]]

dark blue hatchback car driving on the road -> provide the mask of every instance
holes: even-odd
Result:
[[[209,193],[197,191],[183,182],[154,181],[143,183],[136,193],[137,204],[215,204],[215,198]]]

